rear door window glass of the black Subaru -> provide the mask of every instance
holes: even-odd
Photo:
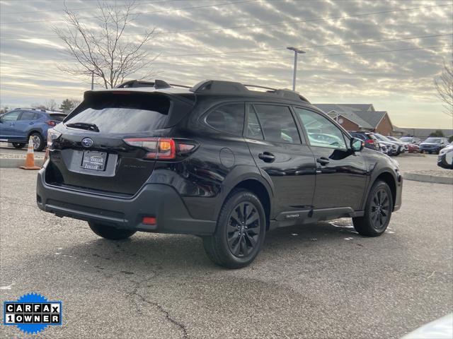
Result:
[[[301,143],[296,122],[287,106],[254,105],[264,132],[264,140],[275,143]]]

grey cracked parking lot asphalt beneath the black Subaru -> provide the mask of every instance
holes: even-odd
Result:
[[[0,169],[0,294],[61,299],[45,338],[401,338],[453,311],[450,185],[406,181],[382,237],[350,219],[282,228],[251,266],[225,270],[197,237],[113,242],[43,213],[35,177]]]

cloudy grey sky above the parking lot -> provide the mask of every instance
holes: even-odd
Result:
[[[293,54],[286,47],[295,46],[306,52],[296,89],[311,102],[372,103],[396,126],[453,127],[433,85],[453,58],[452,0],[137,3],[140,16],[127,39],[156,28],[146,48],[159,55],[153,69],[168,82],[214,78],[291,88]],[[96,1],[66,4],[96,27]],[[66,26],[62,8],[59,0],[0,0],[2,107],[61,102],[89,89],[91,79],[59,70],[74,62],[52,29]]]

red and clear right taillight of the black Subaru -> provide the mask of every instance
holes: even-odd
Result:
[[[124,141],[127,145],[147,150],[144,159],[174,160],[195,150],[195,143],[173,138],[127,138]]]

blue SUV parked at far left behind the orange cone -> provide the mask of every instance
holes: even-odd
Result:
[[[0,117],[0,141],[23,148],[30,136],[33,149],[43,150],[47,143],[47,130],[59,124],[67,114],[45,109],[18,108]]]

